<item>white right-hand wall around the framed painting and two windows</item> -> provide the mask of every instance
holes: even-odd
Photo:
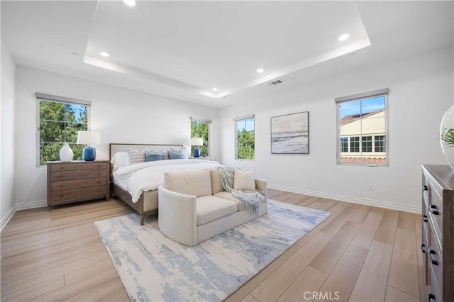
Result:
[[[302,194],[418,212],[421,164],[446,164],[438,138],[453,104],[453,49],[304,84],[220,111],[221,160]],[[388,87],[389,167],[336,164],[334,99]],[[309,111],[309,155],[270,154],[270,118]],[[234,160],[232,118],[255,113],[255,160]],[[374,191],[367,191],[372,184]]]

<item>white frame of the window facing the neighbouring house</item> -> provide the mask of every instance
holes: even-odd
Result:
[[[367,100],[367,99],[373,99],[379,96],[384,96],[384,129],[385,133],[384,135],[381,134],[375,134],[375,133],[361,133],[360,135],[343,135],[341,136],[341,118],[340,118],[340,104],[348,102],[348,101],[362,101],[362,100]],[[384,88],[384,89],[378,89],[375,91],[368,91],[360,94],[353,94],[350,96],[342,96],[339,98],[335,99],[336,103],[336,163],[338,165],[353,165],[353,166],[365,166],[365,167],[389,167],[389,89]],[[380,140],[384,142],[384,156],[386,158],[386,163],[385,164],[372,164],[372,163],[350,163],[350,162],[341,162],[341,138],[348,138],[348,152],[351,152],[350,150],[350,138],[353,137],[358,137],[360,138],[359,140],[359,154],[360,157],[362,158],[363,153],[367,155],[367,153],[374,153],[375,152],[375,140],[376,137],[384,136],[384,140]],[[372,152],[363,152],[362,151],[362,144],[363,140],[362,137],[367,137],[367,136],[372,136]],[[370,141],[368,141],[370,142]],[[383,146],[380,146],[383,147]]]

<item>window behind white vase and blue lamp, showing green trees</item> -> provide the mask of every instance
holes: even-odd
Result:
[[[60,160],[60,149],[68,142],[73,160],[82,160],[83,145],[77,131],[89,129],[90,102],[36,93],[38,103],[38,165]]]

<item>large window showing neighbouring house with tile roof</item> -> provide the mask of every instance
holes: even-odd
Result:
[[[388,91],[336,98],[338,164],[387,165]]]

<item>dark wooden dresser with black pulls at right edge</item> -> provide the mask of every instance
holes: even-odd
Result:
[[[449,166],[423,165],[422,219],[427,299],[454,297],[454,172]]]

